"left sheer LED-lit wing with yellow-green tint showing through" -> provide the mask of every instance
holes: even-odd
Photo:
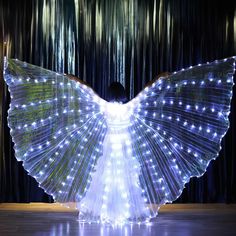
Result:
[[[62,74],[9,59],[8,123],[15,155],[56,201],[79,201],[101,155],[106,123],[89,87]]]

